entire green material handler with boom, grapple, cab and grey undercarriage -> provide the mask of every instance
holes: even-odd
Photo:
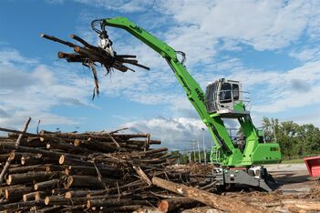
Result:
[[[109,54],[111,53],[111,56],[114,52],[112,42],[108,39],[106,26],[128,31],[168,62],[174,76],[185,90],[201,120],[208,127],[214,141],[211,161],[217,167],[212,171],[210,181],[222,187],[240,184],[271,190],[268,183],[272,177],[261,165],[279,163],[281,161],[280,147],[274,142],[266,143],[260,131],[253,126],[250,112],[243,99],[243,88],[240,82],[222,78],[208,84],[204,93],[201,86],[183,65],[185,61],[183,52],[174,50],[127,18],[98,19],[94,20],[91,26],[101,39],[99,46]],[[181,55],[181,60],[178,55]],[[232,140],[223,119],[238,120],[244,134],[241,144]]]

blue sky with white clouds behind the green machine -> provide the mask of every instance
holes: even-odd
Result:
[[[148,46],[109,28],[119,54],[136,54],[151,70],[99,70],[101,95],[91,100],[87,68],[57,60],[65,46],[40,33],[96,45],[93,19],[126,16],[176,50],[204,89],[220,77],[240,80],[263,117],[320,127],[319,1],[2,1],[0,6],[0,127],[21,128],[27,116],[41,128],[86,131],[130,127],[163,145],[189,148],[201,121],[170,67]],[[209,147],[210,138],[206,135]]]

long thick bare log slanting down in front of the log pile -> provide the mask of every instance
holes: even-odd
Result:
[[[263,208],[253,207],[241,200],[225,198],[198,188],[191,188],[182,184],[176,184],[160,177],[153,177],[152,183],[159,188],[164,188],[178,193],[181,196],[197,200],[205,205],[211,206],[212,208],[218,208],[229,212],[263,212]]]

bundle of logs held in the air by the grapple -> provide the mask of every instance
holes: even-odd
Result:
[[[97,94],[97,96],[99,94],[98,74],[96,69],[97,63],[106,68],[107,74],[114,69],[119,70],[120,72],[127,72],[128,70],[135,72],[135,70],[130,68],[128,65],[138,66],[140,68],[150,70],[148,66],[140,65],[138,63],[138,60],[132,59],[136,58],[136,56],[118,55],[115,51],[112,50],[112,42],[110,42],[108,49],[104,49],[100,46],[92,46],[82,38],[73,34],[71,34],[70,37],[83,46],[77,46],[71,42],[61,40],[51,35],[41,34],[41,37],[73,48],[74,53],[58,52],[57,56],[59,58],[65,58],[67,62],[81,63],[83,66],[87,66],[91,69],[95,83],[93,97],[95,96],[95,94]]]

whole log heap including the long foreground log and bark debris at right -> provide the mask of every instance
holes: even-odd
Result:
[[[166,147],[153,147],[160,141],[150,134],[0,130],[9,132],[0,137],[0,211],[320,210],[315,192],[304,198],[211,193],[203,177],[212,165],[177,167]]]

